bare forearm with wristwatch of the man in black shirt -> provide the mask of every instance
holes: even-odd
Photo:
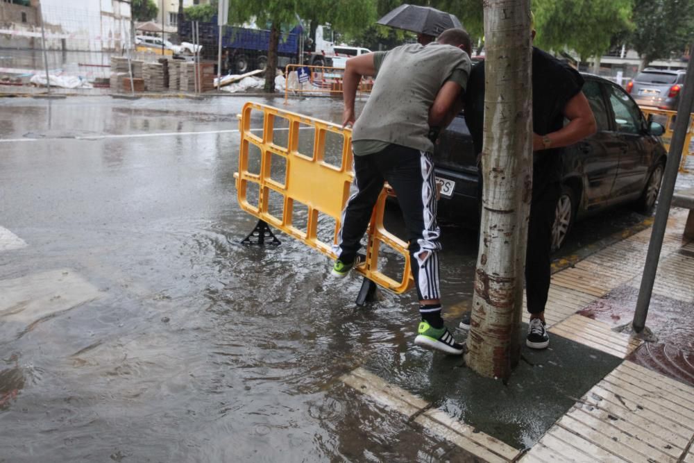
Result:
[[[549,148],[560,148],[561,146],[568,146],[579,140],[583,140],[585,137],[593,135],[593,133],[598,130],[598,126],[595,124],[593,110],[591,110],[588,99],[586,99],[583,92],[575,94],[575,96],[566,103],[562,112],[564,113],[564,117],[569,120],[569,123],[560,130],[548,133],[547,135],[533,133],[533,151],[545,149],[545,144],[543,142],[543,138],[545,137],[550,139]]]

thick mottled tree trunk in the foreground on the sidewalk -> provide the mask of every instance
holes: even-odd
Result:
[[[532,196],[530,0],[486,0],[484,35],[484,191],[466,363],[506,380],[521,355]]]

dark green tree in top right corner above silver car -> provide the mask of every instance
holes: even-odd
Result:
[[[684,51],[694,37],[693,11],[694,0],[636,0],[629,44],[641,56],[641,69]]]

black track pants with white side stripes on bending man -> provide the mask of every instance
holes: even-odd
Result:
[[[403,212],[408,251],[420,301],[439,296],[440,230],[436,221],[436,184],[430,153],[391,144],[379,153],[354,157],[355,186],[342,212],[335,253],[352,262],[371,220],[384,181],[395,190]]]

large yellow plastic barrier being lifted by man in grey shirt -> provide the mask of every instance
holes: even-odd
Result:
[[[262,116],[262,121],[258,116]],[[278,124],[278,121],[282,123]],[[350,184],[354,176],[352,132],[320,119],[251,102],[244,105],[242,114],[239,115],[239,131],[241,149],[239,171],[235,177],[237,199],[241,208],[330,258],[335,258],[332,245],[337,243],[342,210],[350,195]],[[313,132],[307,134],[313,142],[312,152],[302,152],[305,150],[303,144],[300,149],[301,131]],[[334,164],[325,156],[328,137],[331,141],[338,140],[342,144],[341,158]],[[307,138],[302,140],[310,142]],[[282,142],[285,142],[285,146],[282,146]],[[257,192],[257,199],[251,194],[254,192]],[[366,262],[359,264],[356,270],[374,283],[402,293],[411,287],[413,280],[407,243],[389,233],[383,225],[388,194],[388,188],[384,187],[366,232]],[[305,218],[301,217],[303,210],[307,211]],[[319,226],[325,229],[326,217],[332,218],[335,226],[328,230],[330,233],[319,236]],[[298,222],[304,220],[305,228],[298,226]],[[387,244],[405,258],[405,266],[399,273],[402,275],[400,281],[380,271],[381,244]]]

